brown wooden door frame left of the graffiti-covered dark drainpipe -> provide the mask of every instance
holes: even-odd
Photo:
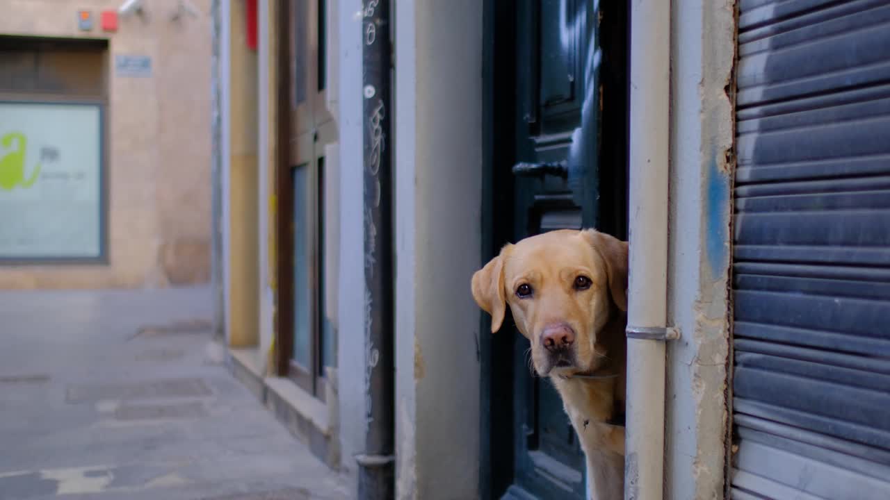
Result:
[[[277,0],[277,86],[275,90],[277,144],[275,162],[275,280],[278,284],[274,313],[275,335],[275,367],[279,376],[290,378],[303,391],[325,402],[328,384],[324,370],[322,345],[332,339],[324,339],[322,333],[325,297],[320,294],[320,286],[324,277],[323,262],[324,238],[322,223],[324,221],[322,168],[328,166],[327,158],[320,156],[317,150],[320,145],[336,142],[336,123],[329,116],[327,103],[327,76],[323,79],[320,71],[324,70],[327,61],[327,40],[322,40],[327,18],[326,0]],[[295,46],[298,11],[296,3],[303,2],[305,23],[303,25],[303,41],[300,54],[304,58],[303,78],[305,81],[304,100],[295,102]],[[320,14],[320,9],[324,9]],[[324,22],[323,22],[324,20]],[[322,52],[320,52],[322,51]],[[322,85],[324,84],[324,85]],[[325,88],[321,88],[324,86]],[[310,362],[309,366],[297,363],[293,359],[295,345],[295,307],[297,291],[294,283],[294,251],[295,251],[295,219],[294,204],[298,199],[294,192],[293,172],[296,168],[306,168],[308,191],[305,198],[311,221],[306,227],[306,246],[308,264],[309,328],[310,328]],[[328,263],[328,265],[330,265]],[[331,284],[327,284],[331,286]],[[336,286],[336,284],[333,284]]]

